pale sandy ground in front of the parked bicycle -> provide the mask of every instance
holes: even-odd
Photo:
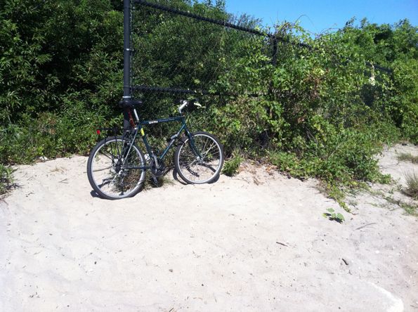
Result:
[[[380,162],[399,185],[417,168],[402,148]],[[314,180],[244,167],[119,201],[91,193],[86,157],[18,167],[0,202],[0,311],[418,311],[417,217],[376,193],[348,214]]]

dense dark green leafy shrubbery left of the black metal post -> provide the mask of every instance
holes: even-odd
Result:
[[[0,163],[86,154],[120,122],[123,14],[110,1],[5,1],[0,8]]]

